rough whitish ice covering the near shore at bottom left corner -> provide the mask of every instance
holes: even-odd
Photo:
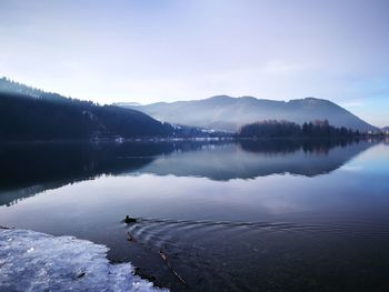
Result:
[[[168,291],[111,264],[108,248],[72,236],[0,229],[0,291]]]

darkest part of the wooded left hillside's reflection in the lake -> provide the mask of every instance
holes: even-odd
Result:
[[[0,144],[0,191],[130,172],[159,155],[198,150],[208,144],[189,141],[4,143]]]

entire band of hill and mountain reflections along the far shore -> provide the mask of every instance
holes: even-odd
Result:
[[[0,205],[101,174],[139,172],[212,180],[287,172],[313,177],[339,168],[371,145],[351,143],[286,139],[1,144]],[[236,151],[237,147],[243,151]],[[331,151],[335,147],[338,151]]]

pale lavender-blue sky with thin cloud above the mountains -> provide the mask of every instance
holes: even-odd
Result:
[[[388,0],[1,0],[0,75],[99,103],[328,99],[389,125]]]

